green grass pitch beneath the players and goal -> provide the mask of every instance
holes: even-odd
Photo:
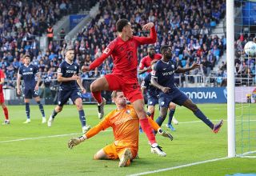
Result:
[[[241,105],[237,105],[241,106]],[[256,108],[245,110],[254,119]],[[218,134],[214,134],[190,110],[178,106],[175,117],[180,122],[175,132],[174,141],[157,136],[158,144],[165,150],[165,158],[150,154],[150,146],[146,135],[139,136],[139,158],[129,167],[118,168],[118,161],[95,161],[94,154],[106,144],[113,142],[112,129],[108,129],[75,146],[67,148],[71,137],[82,134],[78,111],[75,106],[64,106],[61,114],[55,118],[52,127],[41,124],[38,106],[30,106],[30,124],[22,124],[26,120],[25,106],[8,106],[10,126],[0,126],[0,175],[129,175],[139,174],[175,166],[183,166],[194,162],[202,162],[227,156],[227,122],[226,104],[199,104],[198,107],[214,122],[223,118],[224,125]],[[46,117],[49,118],[54,106],[44,106]],[[97,108],[84,105],[87,123],[96,125]],[[106,106],[106,113],[114,109],[114,105]],[[242,114],[238,108],[237,114]],[[3,121],[3,113],[0,113]],[[155,118],[158,116],[158,110]],[[256,122],[243,124],[237,118],[237,143],[244,146],[244,151],[256,150]],[[167,119],[166,119],[167,121]],[[167,130],[164,122],[162,128]],[[254,129],[246,133],[246,128]],[[241,134],[241,129],[245,134]],[[241,139],[243,135],[243,140]],[[250,136],[251,135],[251,136]],[[246,143],[246,138],[253,138]],[[22,139],[22,140],[17,140]],[[249,149],[248,149],[249,150]],[[235,173],[256,173],[255,158],[228,158],[216,162],[207,162],[195,166],[167,170],[154,175],[226,175]],[[151,174],[150,174],[151,175]],[[153,175],[153,174],[152,174]]]

